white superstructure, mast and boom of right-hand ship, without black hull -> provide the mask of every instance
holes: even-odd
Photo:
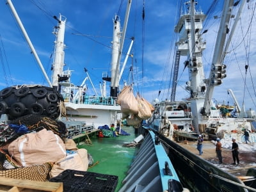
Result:
[[[154,115],[148,119],[148,124],[150,128],[172,140],[196,140],[198,135],[202,134],[205,140],[236,138],[237,141],[243,142],[243,132],[248,129],[252,132],[250,139],[255,142],[255,136],[253,136],[255,127],[252,124],[255,122],[255,110],[250,108],[246,111],[244,102],[241,108],[236,95],[230,88],[227,89],[227,93],[232,96],[234,105],[214,102],[212,98],[214,88],[220,87],[223,81],[228,79],[225,57],[230,53],[228,46],[246,3],[232,1],[229,4],[223,4],[220,27],[212,54],[211,70],[209,77],[206,78],[204,71],[206,67],[203,63],[206,41],[202,36],[207,33],[206,29],[203,30],[207,16],[199,7],[198,10],[195,9],[197,2],[191,2],[184,3],[185,10],[174,29],[179,40],[175,44],[177,51],[173,60],[172,89],[168,91],[170,95],[163,101],[154,100],[156,110]],[[233,10],[232,7],[234,7]],[[232,19],[233,16],[236,16],[235,19]],[[195,18],[195,22],[191,18]],[[228,22],[232,22],[232,25],[227,28],[225,25]],[[195,31],[195,33],[190,33],[190,31]],[[187,70],[189,77],[184,88],[188,91],[188,97],[175,100],[182,56],[186,58],[183,71]]]

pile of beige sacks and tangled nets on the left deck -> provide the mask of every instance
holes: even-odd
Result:
[[[88,169],[88,154],[66,140],[63,122],[25,115],[0,122],[0,176],[44,181],[64,170]]]

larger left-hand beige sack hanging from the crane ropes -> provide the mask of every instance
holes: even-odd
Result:
[[[118,95],[116,102],[121,106],[122,113],[138,113],[138,102],[133,95],[133,89],[131,85],[124,86],[123,90]]]

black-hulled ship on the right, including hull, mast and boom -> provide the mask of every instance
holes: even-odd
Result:
[[[240,108],[231,89],[227,92],[232,95],[234,105],[214,104],[212,100],[214,88],[221,86],[225,81],[227,67],[223,61],[228,54],[226,43],[230,44],[230,37],[234,34],[233,30],[237,20],[240,19],[239,14],[246,3],[249,2],[223,2],[208,79],[204,77],[202,63],[203,51],[206,49],[202,35],[207,33],[207,30],[202,29],[206,16],[200,10],[200,5],[196,10],[196,1],[186,1],[184,6],[180,6],[186,10],[180,14],[174,29],[179,33],[179,40],[175,44],[177,51],[173,61],[172,90],[168,91],[170,95],[165,100],[153,101],[156,109],[143,125],[143,128],[157,132],[182,184],[191,191],[255,191],[254,179],[250,181],[248,179],[251,176],[255,177],[255,168],[248,169],[244,175],[248,180],[241,180],[177,143],[196,141],[200,134],[204,140],[214,141],[216,138],[221,138],[231,141],[231,138],[236,138],[237,142],[243,142],[243,133],[246,129],[251,131],[251,139],[255,142],[255,128],[252,125],[255,121],[253,109],[245,111],[244,107]],[[247,6],[250,7],[249,4]],[[234,18],[234,28],[228,24],[231,18]],[[189,74],[189,80],[186,82],[189,97],[175,100],[181,56],[187,57],[184,61],[184,69],[188,70]]]

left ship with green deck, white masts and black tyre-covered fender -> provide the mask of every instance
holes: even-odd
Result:
[[[129,13],[131,2],[131,0],[127,1],[125,15]],[[50,81],[12,1],[7,0],[6,4],[10,6],[13,15],[15,15],[15,19],[28,41],[38,65],[42,68],[49,86],[22,84],[9,86],[0,91],[0,121],[1,126],[4,125],[4,127],[1,127],[1,131],[3,131],[0,134],[1,139],[3,138],[1,145],[7,141],[4,140],[6,135],[3,133],[6,133],[6,129],[10,129],[8,125],[10,122],[18,120],[24,123],[23,117],[29,120],[29,118],[35,118],[35,116],[47,116],[52,120],[63,122],[67,127],[67,139],[76,141],[77,147],[80,149],[86,148],[93,159],[97,161],[88,172],[67,170],[68,177],[72,177],[72,179],[58,180],[62,177],[61,174],[65,175],[65,173],[61,173],[60,177],[50,179],[51,182],[63,182],[64,191],[69,191],[69,189],[75,191],[87,189],[96,191],[188,191],[180,183],[175,168],[173,168],[170,158],[154,131],[143,129],[140,134],[135,134],[133,127],[123,127],[117,123],[118,113],[122,111],[120,106],[116,104],[118,81],[120,81],[120,77],[118,77],[120,76],[119,67],[116,67],[116,65],[120,62],[120,52],[122,52],[122,48],[120,48],[122,46],[119,47],[119,44],[123,44],[122,39],[125,38],[125,32],[123,31],[120,40],[121,32],[118,16],[113,19],[112,76],[111,79],[106,78],[106,80],[111,81],[111,97],[106,97],[104,89],[102,95],[99,96],[95,93],[95,95],[90,96],[83,93],[83,91],[86,91],[84,82],[86,79],[90,80],[90,76],[87,76],[81,86],[77,87],[70,81],[71,70],[63,71],[64,32],[67,19],[63,15],[54,17],[58,26],[54,28],[53,32],[56,35],[56,41],[54,42],[52,81]],[[127,18],[125,18],[126,20]],[[88,72],[86,69],[84,70]],[[102,127],[100,125],[108,127],[112,124],[119,128],[118,136],[99,137],[98,134],[100,134],[101,129],[98,129],[98,126],[99,128]],[[132,133],[122,135],[121,133],[124,130]],[[113,134],[112,131],[111,134]],[[128,137],[127,135],[131,136]],[[14,137],[10,137],[10,140],[8,138],[8,141],[11,140],[14,140]],[[130,145],[133,146],[131,149],[124,146],[127,143],[129,144],[129,141]],[[138,147],[140,148],[138,149]],[[5,173],[4,171],[0,170],[1,176]],[[91,180],[91,182],[88,184],[87,182],[79,183],[81,177],[77,177],[77,175],[83,174],[91,175],[91,177],[86,176],[86,179]],[[20,177],[20,179],[24,179],[23,176]],[[29,177],[29,175],[27,174],[26,177]]]

